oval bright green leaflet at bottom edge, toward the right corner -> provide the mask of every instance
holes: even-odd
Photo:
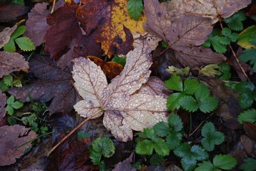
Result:
[[[216,168],[230,170],[236,166],[237,161],[232,156],[219,154],[213,158],[212,163]]]

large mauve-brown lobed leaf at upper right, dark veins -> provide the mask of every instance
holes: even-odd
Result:
[[[147,16],[145,29],[166,41],[184,66],[193,68],[225,61],[225,56],[212,52],[211,49],[196,47],[204,43],[211,33],[211,19],[200,15],[180,14],[173,20],[166,6],[157,0],[146,0],[144,13]]]

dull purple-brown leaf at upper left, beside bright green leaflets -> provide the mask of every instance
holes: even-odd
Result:
[[[49,29],[46,21],[46,16],[51,13],[47,10],[47,3],[35,4],[34,8],[28,13],[26,20],[26,33],[24,36],[31,38],[36,46],[44,43],[44,36]]]

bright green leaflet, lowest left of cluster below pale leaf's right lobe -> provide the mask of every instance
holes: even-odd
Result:
[[[135,151],[138,154],[151,155],[153,153],[154,143],[151,140],[143,140],[138,142]]]

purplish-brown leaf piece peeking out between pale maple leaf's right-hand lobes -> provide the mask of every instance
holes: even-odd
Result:
[[[148,81],[141,86],[138,93],[153,94],[168,98],[171,91],[166,88],[164,82],[158,77],[149,77]]]

